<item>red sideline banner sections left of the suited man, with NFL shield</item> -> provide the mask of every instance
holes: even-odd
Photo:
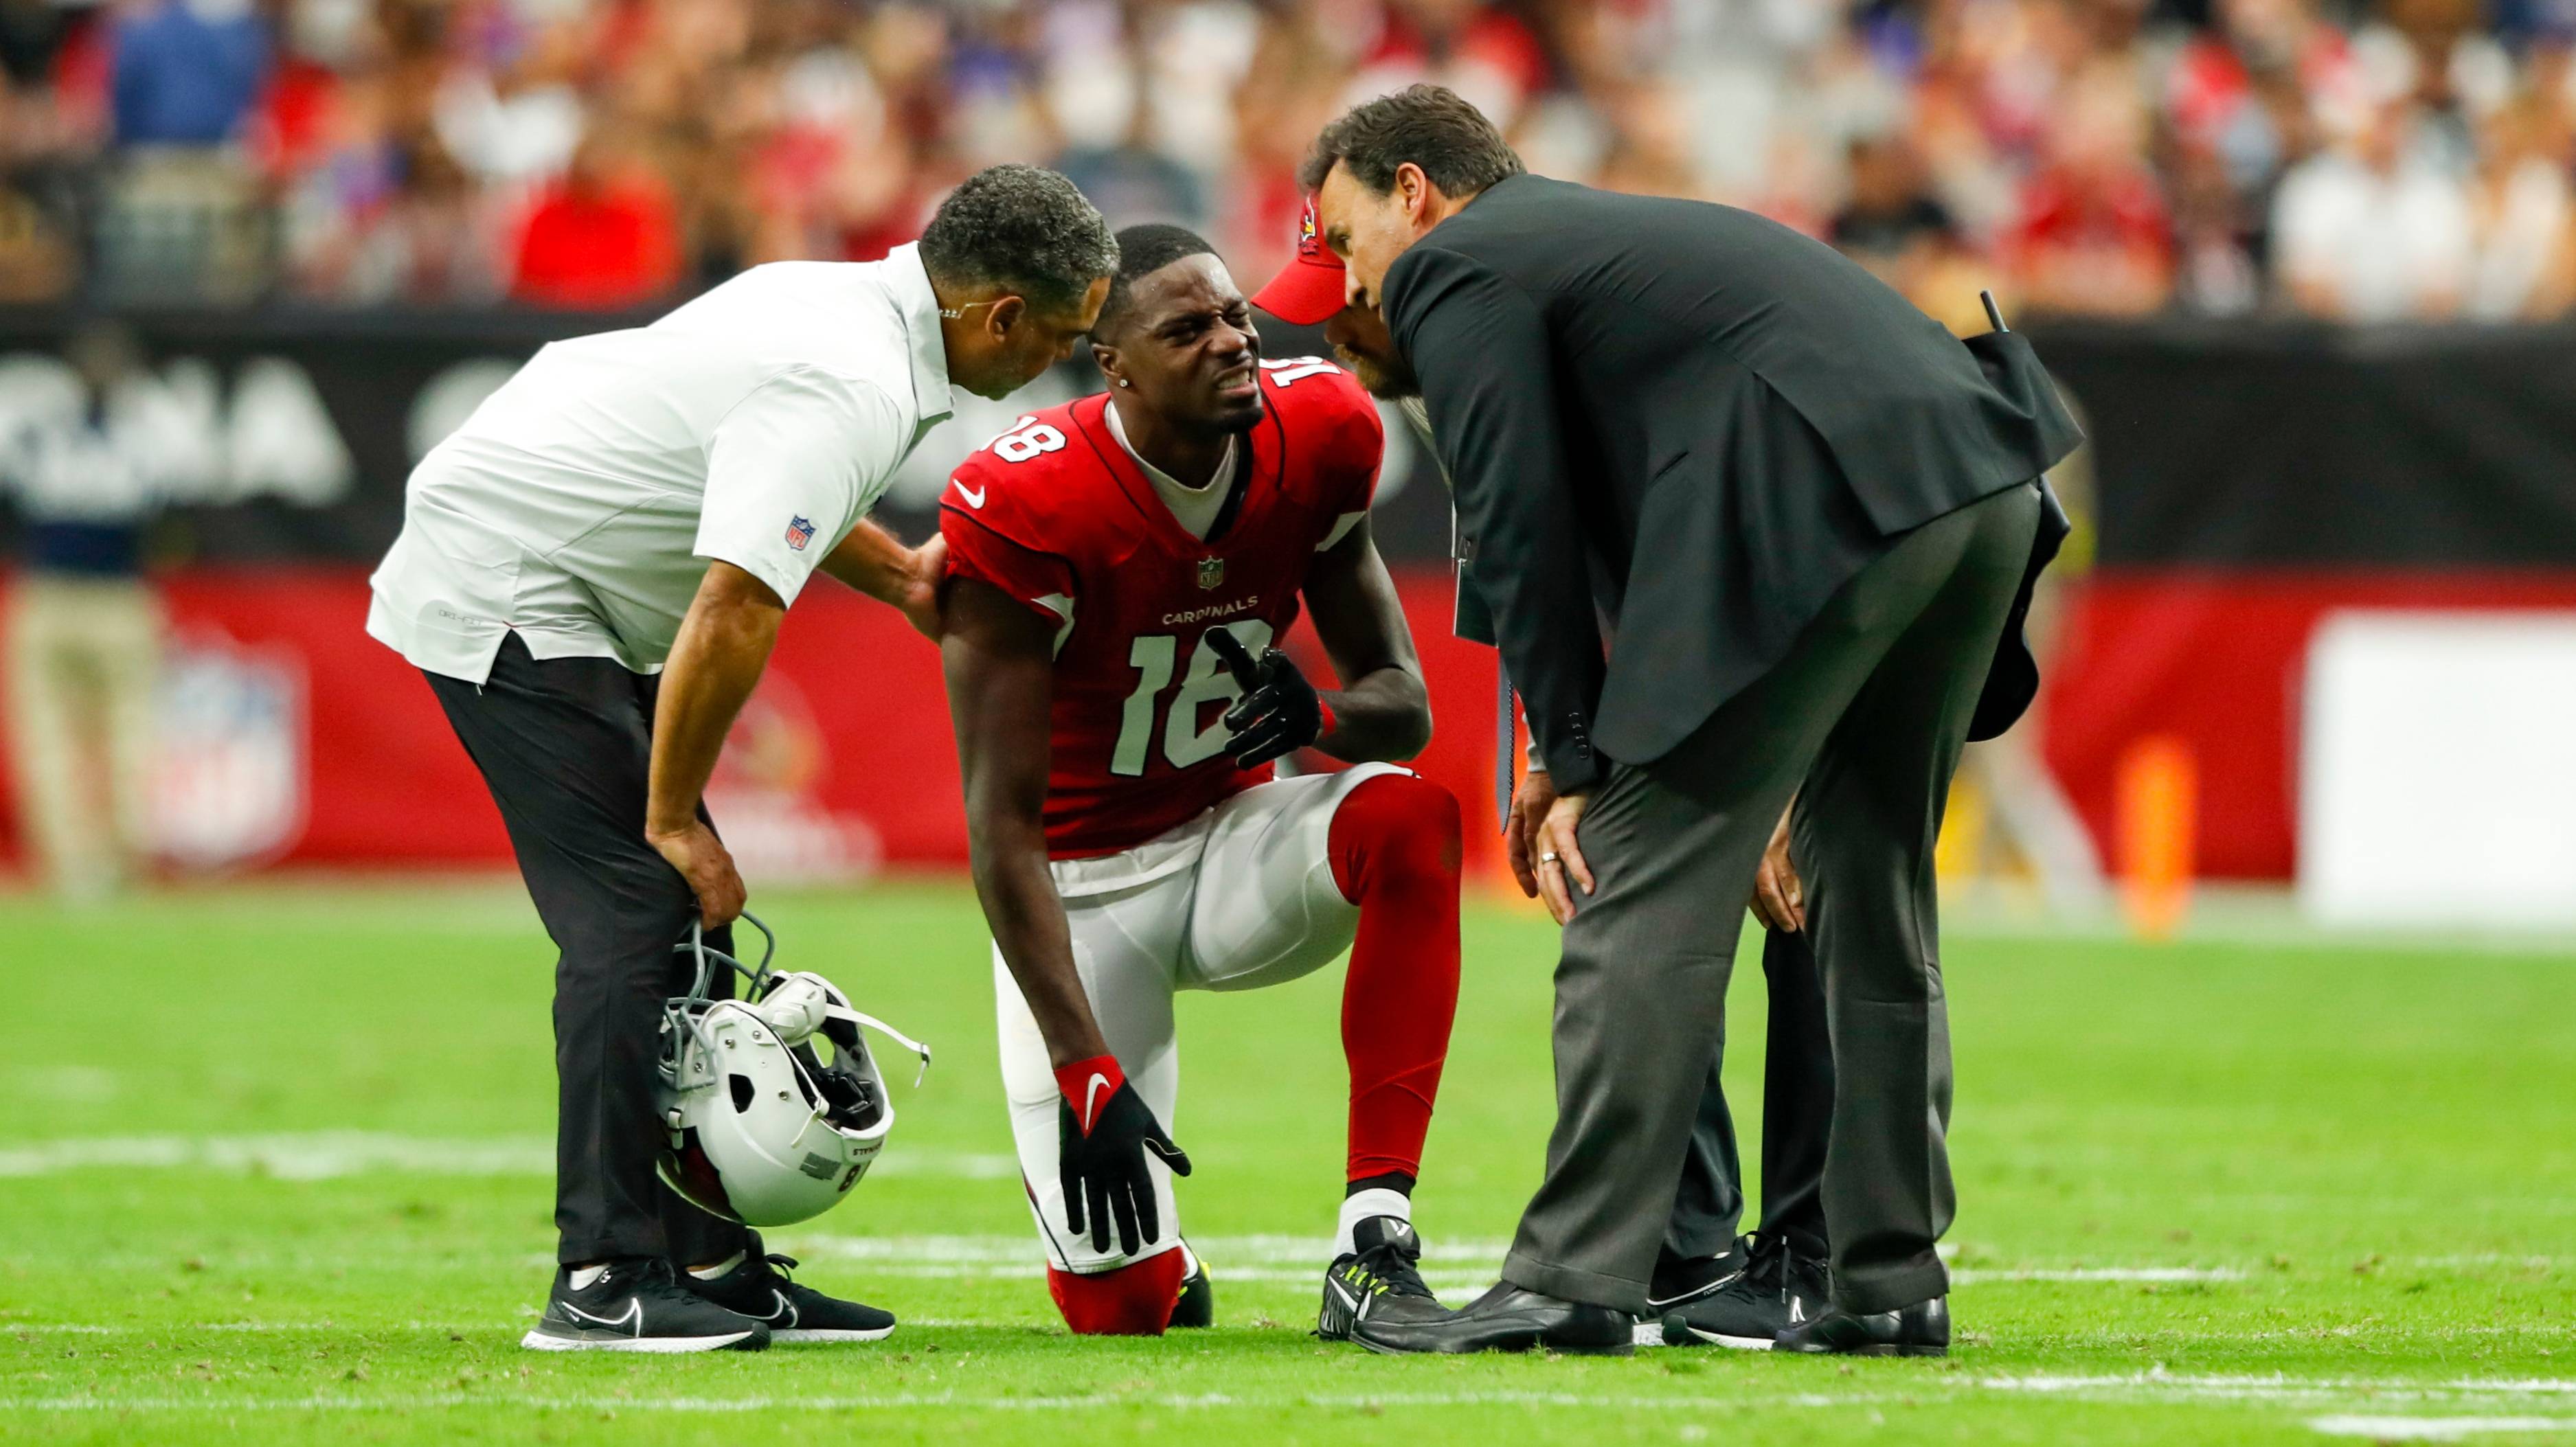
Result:
[[[1414,767],[1458,796],[1471,865],[1499,868],[1494,654],[1450,636],[1448,569],[1399,569],[1399,590],[1437,718]],[[428,682],[363,631],[366,569],[188,569],[162,592],[167,852],[193,868],[507,863],[500,814]],[[1329,672],[1298,636],[1301,662]],[[938,649],[889,608],[817,584],[788,613],[708,801],[755,883],[961,865]],[[18,834],[15,801],[0,798],[8,857]]]

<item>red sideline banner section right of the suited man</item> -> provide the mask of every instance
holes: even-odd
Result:
[[[2040,693],[2048,767],[2115,860],[2112,783],[2141,739],[2174,736],[2200,778],[2200,873],[2298,868],[2298,736],[2308,639],[2344,608],[2576,610],[2576,569],[2102,569]]]

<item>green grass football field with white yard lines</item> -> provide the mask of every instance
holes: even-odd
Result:
[[[848,1205],[775,1233],[881,1347],[538,1357],[549,950],[515,888],[5,899],[0,1439],[2576,1439],[2576,953],[1958,932],[1963,1344],[1381,1359],[1306,1329],[1340,973],[1188,996],[1182,1184],[1218,1329],[1061,1334],[974,901],[755,901],[938,1069]],[[1419,1226],[1492,1280],[1548,1107],[1543,917],[1468,919]],[[1759,968],[1736,1020],[1759,1020]],[[1759,1030],[1728,1074],[1757,1120]]]

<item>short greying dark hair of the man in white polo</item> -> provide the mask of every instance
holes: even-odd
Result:
[[[994,165],[940,201],[922,232],[922,268],[953,286],[1002,286],[1041,312],[1074,312],[1118,270],[1118,242],[1072,180]]]

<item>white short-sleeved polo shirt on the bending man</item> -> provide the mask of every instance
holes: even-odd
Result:
[[[368,636],[466,682],[510,631],[657,672],[708,559],[796,602],[951,412],[938,306],[896,247],[549,345],[412,469]]]

